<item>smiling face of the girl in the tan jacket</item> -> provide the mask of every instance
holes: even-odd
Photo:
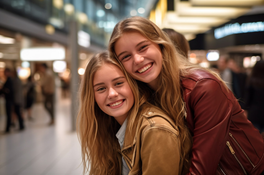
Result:
[[[134,95],[123,72],[104,64],[93,75],[93,92],[99,108],[123,124],[134,105]]]

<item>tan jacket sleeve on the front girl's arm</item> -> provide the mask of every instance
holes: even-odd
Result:
[[[178,175],[179,173],[178,138],[166,128],[154,126],[143,132],[140,156],[143,175]]]

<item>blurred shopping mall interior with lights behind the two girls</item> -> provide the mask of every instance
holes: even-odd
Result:
[[[22,83],[36,82],[32,117],[23,111],[5,134],[5,98],[0,96],[0,174],[81,174],[76,134],[80,77],[94,53],[107,48],[116,23],[143,16],[189,41],[189,61],[216,67],[229,55],[250,74],[264,56],[264,0],[0,0],[0,88],[5,68]],[[46,63],[55,76],[55,124],[43,106],[39,80]]]

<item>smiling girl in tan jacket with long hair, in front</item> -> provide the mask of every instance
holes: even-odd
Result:
[[[81,80],[77,122],[84,173],[188,172],[188,130],[189,144],[182,148],[175,122],[146,99],[109,52],[91,58]]]

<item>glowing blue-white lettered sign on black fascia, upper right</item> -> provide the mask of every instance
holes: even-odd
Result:
[[[264,22],[226,24],[224,27],[216,28],[214,32],[215,32],[215,38],[219,39],[237,33],[261,32],[261,31],[264,31]]]

